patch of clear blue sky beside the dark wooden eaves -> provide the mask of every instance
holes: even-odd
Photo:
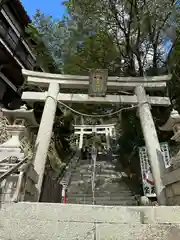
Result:
[[[61,18],[65,13],[65,8],[62,6],[63,0],[21,0],[21,2],[30,18],[36,13],[36,9],[55,19]]]

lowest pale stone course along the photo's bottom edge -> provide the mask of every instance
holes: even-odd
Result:
[[[9,226],[13,226],[9,228]],[[179,240],[180,225],[53,222],[35,219],[2,223],[1,240]]]

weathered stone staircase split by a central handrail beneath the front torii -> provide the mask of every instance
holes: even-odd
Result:
[[[67,202],[74,204],[92,204],[92,164],[81,160],[72,171],[68,188]],[[123,181],[122,173],[116,171],[115,164],[108,159],[96,162],[96,205],[137,205],[135,197]]]

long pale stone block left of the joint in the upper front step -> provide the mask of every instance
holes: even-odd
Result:
[[[1,223],[5,219],[43,221],[77,221],[102,223],[140,223],[140,213],[127,207],[84,206],[58,203],[2,204]],[[0,223],[0,224],[1,224]],[[0,228],[1,230],[1,228]]]

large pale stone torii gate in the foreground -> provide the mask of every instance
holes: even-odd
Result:
[[[146,91],[153,92],[156,90],[164,91],[166,82],[171,79],[171,76],[156,76],[156,77],[107,77],[107,91],[114,90],[116,93],[120,90],[131,90],[132,95],[100,95],[93,97],[88,94],[70,94],[61,93],[61,89],[88,89],[91,82],[89,76],[74,76],[62,74],[50,74],[43,72],[34,72],[23,70],[23,74],[29,85],[38,85],[46,87],[46,92],[24,92],[22,100],[26,102],[45,102],[42,119],[36,140],[36,154],[34,167],[39,174],[37,188],[39,196],[44,176],[47,151],[52,134],[52,128],[56,113],[58,101],[64,103],[109,103],[121,105],[136,105],[138,108],[139,118],[144,134],[146,147],[148,150],[150,165],[152,168],[153,177],[155,179],[155,188],[159,204],[166,205],[166,197],[164,186],[161,180],[161,153],[160,144],[158,141],[156,128],[151,114],[151,106],[169,106],[170,100],[168,97],[156,97],[146,95]],[[96,76],[94,75],[94,80]],[[92,80],[92,79],[91,79]],[[102,77],[96,78],[99,86]]]

